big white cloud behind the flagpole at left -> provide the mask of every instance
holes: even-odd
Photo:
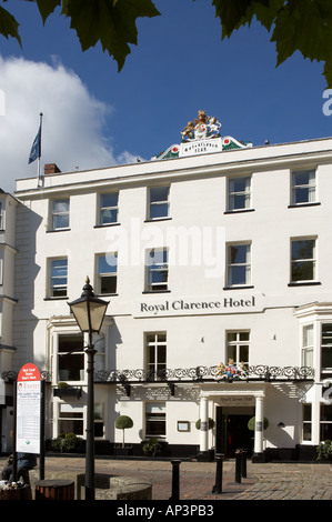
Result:
[[[42,118],[42,157],[62,172],[108,167],[130,153],[113,157],[111,138],[103,135],[112,107],[95,100],[80,78],[63,66],[0,56],[0,188],[13,193],[16,179],[37,175],[28,158]],[[3,102],[4,98],[4,102]],[[1,112],[4,107],[4,113]]]

